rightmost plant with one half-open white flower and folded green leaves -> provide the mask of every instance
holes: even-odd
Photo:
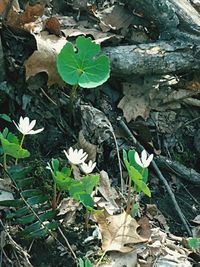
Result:
[[[125,150],[123,150],[123,160],[128,171],[129,175],[129,183],[128,183],[128,200],[127,200],[127,213],[130,213],[132,206],[132,214],[135,215],[137,213],[137,209],[139,208],[138,203],[133,201],[133,205],[131,205],[131,184],[134,184],[134,192],[140,193],[143,192],[148,197],[151,197],[151,191],[147,186],[148,181],[148,165],[150,164],[153,156],[150,155],[149,159],[147,159],[146,151],[144,150],[142,153],[145,154],[146,159],[142,157],[142,160],[136,159],[139,157],[137,154],[136,157],[135,150],[129,150],[128,154]]]

